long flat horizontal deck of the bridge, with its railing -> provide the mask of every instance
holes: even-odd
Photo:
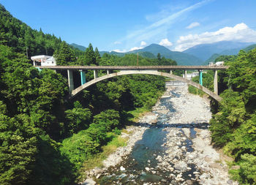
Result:
[[[121,70],[121,69],[184,69],[184,70],[195,70],[195,69],[207,69],[207,70],[225,70],[228,69],[228,66],[36,66],[40,69],[59,69],[59,70],[77,70],[77,69],[94,69],[94,70]]]

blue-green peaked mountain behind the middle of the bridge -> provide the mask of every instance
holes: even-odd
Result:
[[[157,56],[158,53],[165,58],[171,58],[175,60],[178,65],[200,65],[203,64],[203,61],[200,58],[192,56],[188,53],[178,52],[178,51],[171,51],[168,48],[165,48],[162,45],[151,44],[147,47],[140,49],[140,50],[132,50],[128,53],[138,53],[138,52],[149,52],[153,53],[154,56]]]

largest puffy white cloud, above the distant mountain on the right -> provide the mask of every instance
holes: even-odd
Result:
[[[256,42],[256,31],[250,29],[245,23],[238,23],[234,27],[224,27],[218,31],[189,34],[179,37],[175,50],[183,51],[195,45],[220,41]]]

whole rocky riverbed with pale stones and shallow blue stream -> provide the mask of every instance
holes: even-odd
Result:
[[[138,121],[128,127],[127,146],[87,173],[83,184],[237,184],[211,146],[207,103],[187,86],[168,87]]]

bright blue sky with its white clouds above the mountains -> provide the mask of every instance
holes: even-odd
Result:
[[[256,0],[0,0],[32,29],[99,50],[256,42]]]

